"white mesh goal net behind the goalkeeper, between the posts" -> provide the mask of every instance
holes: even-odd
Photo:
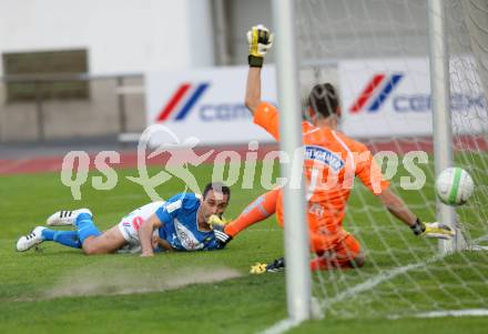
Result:
[[[475,193],[456,208],[467,245],[443,254],[416,237],[358,180],[344,220],[366,254],[354,271],[314,273],[321,313],[336,317],[484,314],[488,307],[488,1],[446,0],[454,165]],[[423,221],[436,220],[427,0],[301,0],[296,42],[302,95],[340,91],[342,130],[366,143]],[[485,83],[485,84],[484,84]]]

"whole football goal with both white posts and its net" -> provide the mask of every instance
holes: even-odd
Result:
[[[364,267],[311,280],[306,224],[285,224],[288,324],[308,318],[312,301],[339,318],[486,315],[488,255],[475,250],[488,242],[488,0],[273,0],[273,17],[282,150],[293,156],[299,145],[298,101],[332,82],[340,130],[374,154],[392,153],[377,154],[392,189],[424,221],[458,232],[449,242],[416,237],[356,184],[344,226],[362,244]],[[421,188],[401,184],[415,179],[404,165],[410,152],[425,158],[416,161]],[[434,190],[453,165],[475,180],[460,208]],[[284,208],[286,222],[305,222],[303,192],[286,189]]]

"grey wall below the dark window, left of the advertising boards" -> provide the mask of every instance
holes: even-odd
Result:
[[[143,87],[141,77],[124,79],[125,87]],[[6,85],[0,83],[0,142],[38,141],[43,126],[45,140],[116,135],[121,131],[115,79],[90,82],[89,100],[44,100],[40,124],[34,102],[6,102]],[[144,94],[124,95],[126,131],[145,128]]]

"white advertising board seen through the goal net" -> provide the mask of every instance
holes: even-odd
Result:
[[[468,58],[450,64],[455,134],[480,132],[480,124],[487,123],[486,100],[476,84],[479,80],[472,70],[467,71],[472,67]],[[343,61],[339,84],[345,133],[357,138],[431,134],[427,58]]]

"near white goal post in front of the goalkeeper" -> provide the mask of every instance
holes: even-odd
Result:
[[[282,110],[281,149],[295,160],[295,163],[282,164],[281,168],[282,176],[287,180],[284,186],[286,294],[288,316],[293,322],[299,323],[311,317],[312,290],[305,191],[302,180],[304,154],[294,11],[293,0],[273,0],[273,22],[276,30],[276,80]],[[299,158],[299,164],[297,164],[297,158]],[[301,180],[299,186],[296,186],[297,182],[292,182],[292,180]]]

